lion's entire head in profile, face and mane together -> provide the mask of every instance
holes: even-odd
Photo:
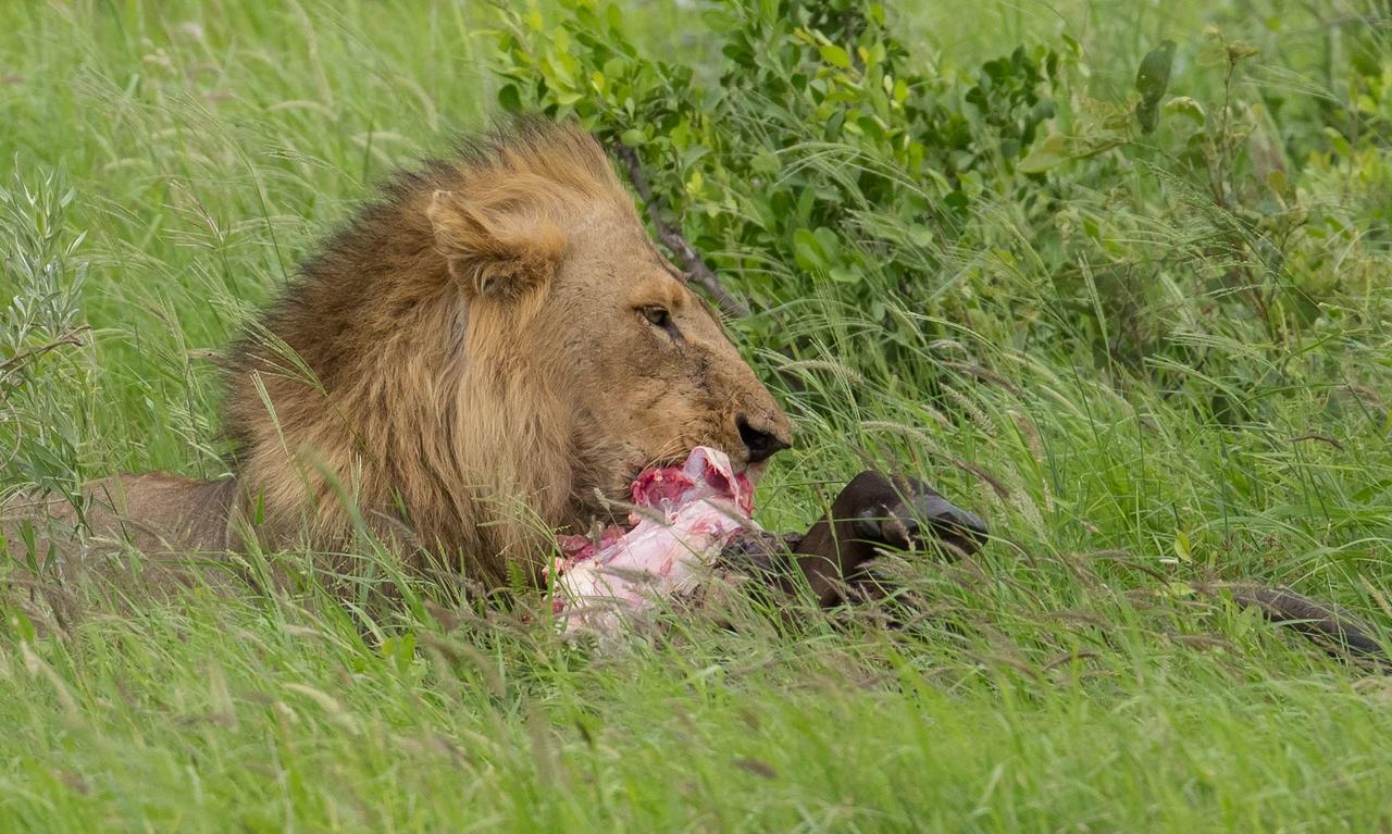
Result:
[[[397,180],[260,330],[231,427],[278,535],[341,539],[347,493],[496,572],[537,528],[583,528],[596,494],[622,497],[646,465],[707,444],[757,478],[791,441],[574,127],[528,123]]]

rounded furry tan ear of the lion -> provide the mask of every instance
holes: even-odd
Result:
[[[550,283],[565,255],[554,223],[518,209],[489,209],[452,191],[426,207],[436,249],[465,294],[511,301]]]

